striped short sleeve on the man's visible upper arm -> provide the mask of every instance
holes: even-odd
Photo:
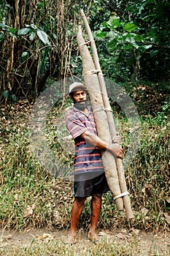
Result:
[[[66,113],[66,127],[74,139],[88,130],[78,116],[72,112]]]

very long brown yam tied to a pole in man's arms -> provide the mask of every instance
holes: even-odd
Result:
[[[82,56],[82,76],[90,97],[90,104],[96,121],[98,137],[107,141],[107,143],[113,143],[112,138],[115,138],[117,133],[112,116],[112,109],[109,105],[104,76],[101,72],[96,45],[93,39],[93,34],[90,31],[90,26],[88,25],[88,20],[82,10],[80,13],[89,37],[89,41],[85,42],[85,39],[82,37],[82,26],[80,25],[77,34],[77,42]],[[93,51],[93,58],[88,50],[89,44]],[[117,208],[120,211],[123,211],[123,208],[125,208],[126,217],[128,219],[134,218],[129,194],[125,184],[125,173],[123,170],[122,159],[115,159],[109,151],[102,151],[101,157],[107,183],[110,191],[115,197]]]

